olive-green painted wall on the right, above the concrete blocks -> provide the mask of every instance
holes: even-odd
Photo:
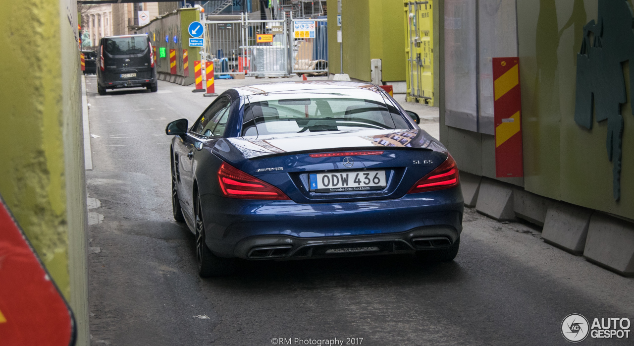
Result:
[[[631,3],[631,1],[630,1]],[[576,6],[576,11],[573,8]],[[436,7],[444,8],[444,1]],[[522,89],[524,178],[499,178],[541,196],[634,219],[634,116],[629,64],[624,63],[628,103],[622,105],[621,199],[612,196],[612,163],[605,140],[607,121],[586,130],[574,122],[576,54],[583,25],[597,19],[597,0],[517,1],[517,37]],[[443,20],[444,15],[439,15]],[[444,25],[439,25],[440,88],[444,90]],[[493,136],[444,126],[441,142],[463,171],[495,178]]]

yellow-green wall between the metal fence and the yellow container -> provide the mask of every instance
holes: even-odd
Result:
[[[337,1],[328,0],[328,68],[340,72]],[[404,81],[403,1],[342,0],[344,73],[370,81],[370,60],[381,59],[383,81]]]

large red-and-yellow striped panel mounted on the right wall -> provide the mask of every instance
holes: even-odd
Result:
[[[518,67],[517,81],[519,82],[519,58],[493,58],[493,95],[496,95],[495,81],[506,72],[509,72],[515,65]],[[506,85],[508,85],[508,83]],[[505,121],[509,121],[508,119],[517,112],[519,112],[519,116],[513,121],[515,127],[509,126],[510,123],[505,123]],[[524,176],[524,157],[522,154],[522,95],[519,83],[493,102],[493,115],[496,130],[495,176],[498,178]],[[503,121],[502,119],[507,120]],[[508,131],[509,128],[512,130]],[[518,128],[519,131],[515,132]],[[505,133],[513,132],[515,133],[512,136],[505,136]],[[498,145],[498,141],[501,141],[500,145]]]

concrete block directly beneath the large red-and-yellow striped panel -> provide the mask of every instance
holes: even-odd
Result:
[[[514,220],[512,185],[482,176],[475,210],[495,220]]]

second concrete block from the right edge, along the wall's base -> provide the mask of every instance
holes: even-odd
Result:
[[[551,203],[546,213],[542,239],[574,255],[582,255],[586,246],[592,210],[573,204]]]

